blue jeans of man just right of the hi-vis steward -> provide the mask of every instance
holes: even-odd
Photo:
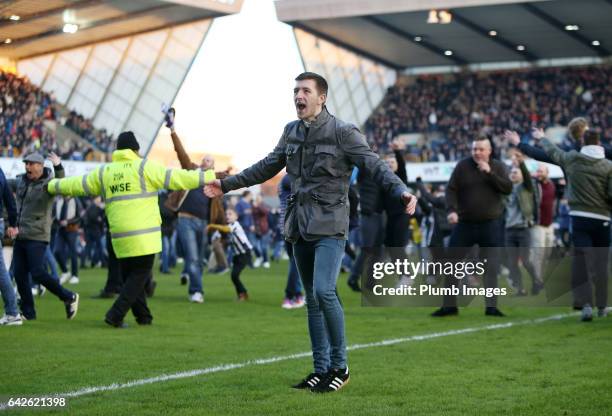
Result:
[[[176,232],[183,248],[185,270],[189,275],[189,294],[204,293],[202,289],[202,255],[208,221],[179,217]]]

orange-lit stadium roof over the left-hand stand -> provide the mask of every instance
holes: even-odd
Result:
[[[21,59],[240,11],[243,0],[9,0],[0,56]],[[78,25],[64,33],[65,24]],[[70,28],[68,28],[70,29]]]

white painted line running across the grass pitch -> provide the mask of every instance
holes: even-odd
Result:
[[[486,326],[452,329],[452,330],[444,331],[444,332],[433,332],[430,334],[413,335],[410,337],[386,339],[383,341],[370,342],[367,344],[354,344],[354,345],[348,346],[347,349],[349,351],[353,351],[353,350],[361,350],[365,348],[384,347],[388,345],[402,344],[402,343],[413,342],[413,341],[426,341],[428,339],[447,337],[451,335],[462,335],[462,334],[469,334],[473,332],[493,331],[496,329],[512,328],[516,326],[523,326],[523,325],[529,325],[529,324],[540,324],[543,322],[560,320],[560,319],[567,318],[570,316],[576,316],[576,313],[551,315],[551,316],[547,316],[544,318],[528,319],[524,321],[514,321],[514,322],[511,321],[511,322],[486,325]],[[255,360],[244,361],[242,363],[221,364],[221,365],[217,365],[214,367],[201,368],[201,369],[190,370],[190,371],[182,371],[180,373],[162,374],[156,377],[128,381],[127,383],[113,383],[113,384],[108,384],[106,386],[84,387],[82,389],[74,390],[74,391],[67,392],[67,393],[52,393],[52,394],[37,394],[37,395],[30,394],[30,396],[31,397],[65,397],[65,398],[79,397],[79,396],[85,396],[88,394],[99,393],[99,392],[104,392],[104,391],[123,390],[123,389],[128,389],[131,387],[144,386],[146,384],[162,383],[164,381],[169,381],[169,380],[179,380],[183,378],[201,376],[204,374],[213,374],[213,373],[220,373],[223,371],[237,370],[240,368],[250,367],[253,365],[264,365],[264,364],[276,363],[279,361],[295,360],[298,358],[310,357],[311,354],[312,353],[308,351],[308,352],[301,352],[298,354],[281,355],[281,356],[270,357],[270,358],[259,358]],[[23,395],[20,395],[20,397],[21,396]],[[8,408],[9,408],[8,402],[0,403],[0,411],[6,410]]]

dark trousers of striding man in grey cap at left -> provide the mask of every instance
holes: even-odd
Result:
[[[49,289],[49,292],[62,302],[68,302],[74,298],[73,292],[64,289],[58,280],[49,275],[44,262],[47,246],[48,244],[43,241],[33,240],[15,240],[13,246],[13,271],[21,297],[21,313],[28,320],[36,319],[32,283],[28,277],[30,274],[34,283],[40,283]]]

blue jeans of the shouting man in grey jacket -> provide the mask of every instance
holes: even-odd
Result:
[[[334,238],[300,239],[293,244],[293,255],[306,291],[308,331],[317,373],[346,368],[344,311],[336,292],[345,244],[345,240]]]

